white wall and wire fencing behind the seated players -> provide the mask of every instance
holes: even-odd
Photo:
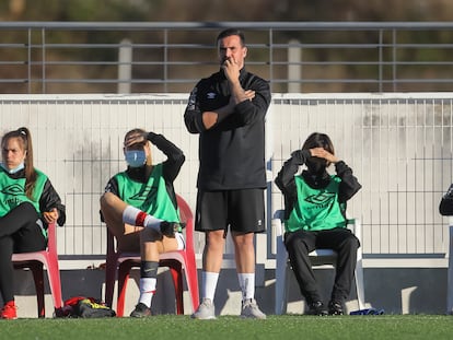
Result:
[[[198,137],[184,127],[186,103],[186,94],[0,96],[1,132],[31,129],[36,166],[67,206],[67,224],[58,228],[61,258],[104,257],[98,199],[125,168],[121,141],[131,128],[164,133],[184,150],[175,186],[195,209]],[[448,221],[438,206],[453,178],[453,93],[274,94],[266,129],[269,227],[256,239],[258,263],[275,266],[270,218],[282,197],[272,180],[313,131],[332,137],[363,186],[348,211],[362,221],[365,259],[445,259]],[[159,150],[153,154],[162,160]],[[198,258],[202,246],[197,233]],[[228,246],[225,259],[231,254]]]

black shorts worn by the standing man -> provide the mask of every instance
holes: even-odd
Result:
[[[198,190],[195,230],[226,233],[229,227],[237,233],[266,230],[264,189]]]

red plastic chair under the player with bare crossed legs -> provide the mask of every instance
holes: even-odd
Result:
[[[183,271],[185,272],[187,290],[190,295],[193,310],[199,304],[197,262],[194,251],[194,215],[190,207],[181,197],[176,196],[179,207],[181,221],[186,223],[186,248],[160,255],[160,267],[167,267],[173,278],[176,296],[176,313],[184,314],[183,301]],[[126,288],[129,272],[132,267],[140,267],[140,254],[120,253],[115,249],[115,238],[107,227],[107,257],[105,268],[105,304],[112,307],[115,278],[118,278],[118,300],[116,315],[123,317],[125,309]]]

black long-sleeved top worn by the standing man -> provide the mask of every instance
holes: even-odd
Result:
[[[187,130],[199,133],[199,189],[234,190],[266,187],[265,116],[270,104],[268,83],[244,69],[240,74],[244,90],[255,98],[235,106],[234,113],[206,130],[204,112],[225,106],[230,87],[223,72],[198,82],[184,114]]]

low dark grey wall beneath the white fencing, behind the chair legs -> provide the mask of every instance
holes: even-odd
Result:
[[[334,271],[317,269],[316,277],[323,282],[323,292],[328,301]],[[132,270],[129,279],[125,316],[137,304],[138,270]],[[302,314],[304,303],[292,272],[289,275],[290,293],[288,313]],[[266,314],[275,310],[275,274],[274,270],[264,272],[264,281],[256,289],[256,300]],[[27,271],[15,271],[16,303],[19,317],[37,316],[36,296],[32,274]],[[386,314],[445,314],[446,307],[446,269],[445,268],[365,268],[367,306],[385,309]],[[103,270],[62,270],[61,284],[63,298],[84,295],[103,298]],[[116,296],[116,292],[115,292]],[[184,292],[185,314],[191,314],[190,300]],[[239,315],[241,292],[234,269],[223,269],[216,293],[216,308],[220,315]],[[116,305],[114,304],[114,309]],[[358,309],[355,289],[352,286],[347,310]],[[160,269],[158,291],[153,298],[152,309],[155,314],[175,314],[173,282],[167,270]],[[53,315],[53,302],[46,285],[46,317]]]

